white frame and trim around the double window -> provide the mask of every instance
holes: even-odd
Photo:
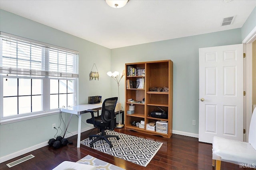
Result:
[[[34,41],[34,40],[31,40],[31,39],[26,39],[26,38],[23,38],[23,37],[18,37],[16,35],[11,35],[11,34],[8,34],[8,33],[0,32],[0,35],[5,35],[5,36],[11,37],[11,38],[19,39],[21,41],[28,41],[28,42],[31,42],[31,43],[36,43],[38,45],[44,46],[44,47],[46,47],[46,49],[44,49],[44,51],[42,51],[42,53],[46,52],[45,56],[47,56],[47,57],[48,57],[48,54],[49,54],[47,52],[47,50],[50,49],[50,48],[60,49],[60,50],[68,51],[68,52],[71,52],[71,53],[76,53],[77,54],[77,59],[76,59],[76,64],[74,65],[74,68],[78,70],[78,55],[79,55],[78,51],[65,49],[65,48],[62,48],[62,47],[54,46],[54,45],[49,45],[49,44],[46,44],[46,43]],[[2,52],[2,50],[1,50],[1,52]],[[2,54],[0,56],[1,56],[0,57],[0,66],[1,66]],[[44,59],[44,61],[42,61],[42,62],[46,62],[45,65],[46,65],[46,67],[48,67],[49,64],[47,64],[47,62],[49,62],[49,61]],[[60,73],[60,75],[62,75],[62,73]],[[1,106],[3,106],[3,80],[4,80],[4,78],[42,79],[42,81],[43,81],[42,82],[42,95],[43,95],[42,110],[43,111],[22,113],[22,114],[17,114],[17,115],[4,117],[3,116],[4,115],[3,107],[1,107]],[[74,86],[73,87],[74,96],[73,97],[74,97],[74,105],[77,105],[78,101],[76,99],[77,99],[77,95],[78,95],[78,71],[77,71],[77,77],[75,77],[75,78],[59,77],[59,76],[55,76],[55,77],[50,77],[50,76],[27,76],[27,75],[12,75],[12,74],[9,74],[7,76],[5,73],[0,72],[0,125],[60,113],[59,108],[50,109],[50,79],[74,80],[74,84],[73,84],[73,86]]]

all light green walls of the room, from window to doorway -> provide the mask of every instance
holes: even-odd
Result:
[[[106,76],[109,70],[122,72],[125,63],[171,59],[174,62],[173,129],[198,134],[198,49],[241,43],[255,27],[255,11],[242,29],[112,50],[4,10],[0,10],[0,31],[79,51],[79,104],[86,103],[88,96],[118,96],[116,82]],[[93,63],[100,72],[99,81],[89,81]],[[124,80],[120,82],[120,102],[124,106]],[[192,119],[196,120],[196,126],[192,125]],[[74,116],[70,132],[77,131],[77,121]],[[56,133],[52,123],[60,123],[59,114],[0,125],[0,157],[48,141]]]

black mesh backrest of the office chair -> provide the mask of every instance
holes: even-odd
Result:
[[[114,120],[117,97],[105,99],[102,103],[101,119],[103,122]]]

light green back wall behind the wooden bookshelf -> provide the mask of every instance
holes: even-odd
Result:
[[[173,130],[198,134],[199,65],[198,49],[241,43],[241,29],[170,39],[111,50],[112,70],[125,63],[173,61]],[[112,83],[112,94],[114,84]],[[124,81],[120,86],[124,86]],[[122,88],[123,90],[123,88]],[[121,91],[121,94],[124,94]],[[124,103],[124,95],[120,96]],[[192,125],[196,120],[196,126]],[[129,122],[126,122],[129,123]]]

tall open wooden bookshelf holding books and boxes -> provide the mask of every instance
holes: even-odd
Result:
[[[129,88],[126,81],[125,129],[134,130],[149,135],[160,135],[162,137],[170,138],[172,136],[172,61],[164,60],[140,63],[126,63],[125,68],[126,80],[129,80],[129,82],[130,80],[132,82],[136,82],[138,78],[142,78],[142,80],[144,81],[142,88]],[[137,74],[136,70],[139,70],[140,72]],[[142,74],[142,72],[144,74]],[[166,87],[168,88],[168,91],[150,91],[150,88],[152,87]],[[129,99],[132,99],[134,101],[129,102]],[[143,99],[145,99],[145,103],[141,102]],[[129,110],[129,106],[131,104],[135,106],[135,110],[133,114],[129,115],[127,114],[127,111]],[[150,113],[158,109],[158,107],[163,109],[168,114],[168,118],[161,119],[150,116]],[[140,122],[142,120],[145,121],[144,129],[132,126],[131,124],[132,121]],[[152,121],[168,122],[167,134],[146,130],[146,124]]]

